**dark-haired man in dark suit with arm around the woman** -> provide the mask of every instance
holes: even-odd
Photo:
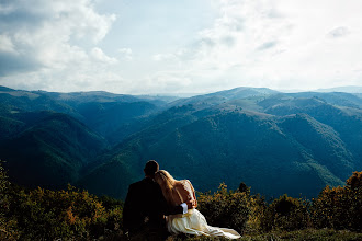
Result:
[[[161,240],[166,231],[165,215],[185,214],[194,203],[169,207],[160,186],[154,181],[159,164],[155,160],[146,163],[145,179],[133,183],[123,208],[123,225],[132,240]]]

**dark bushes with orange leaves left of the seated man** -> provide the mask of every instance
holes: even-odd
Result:
[[[97,196],[70,185],[67,191],[13,187],[9,192],[8,211],[0,220],[11,220],[13,227],[10,228],[15,229],[16,234],[13,237],[21,240],[91,240],[109,233],[120,238],[122,203],[103,199],[108,208]],[[1,234],[9,238],[12,230],[3,227],[3,222],[0,225],[4,230]]]

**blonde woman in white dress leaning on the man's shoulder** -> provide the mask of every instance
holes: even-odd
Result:
[[[155,174],[155,181],[160,185],[169,205],[176,206],[185,200],[196,200],[195,191],[189,180],[177,181],[170,173],[160,170]],[[240,238],[240,234],[234,229],[208,226],[205,217],[195,208],[189,209],[184,215],[168,216],[167,228],[171,233]]]

